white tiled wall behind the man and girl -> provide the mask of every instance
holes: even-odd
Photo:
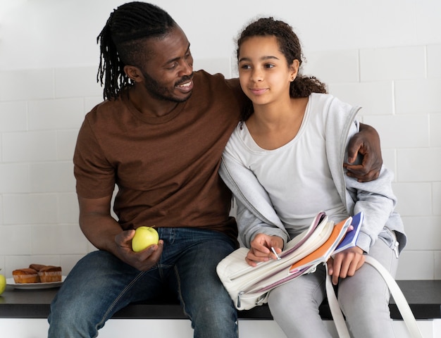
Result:
[[[382,139],[409,244],[397,278],[441,278],[441,45],[305,52],[316,75]],[[195,68],[235,74],[228,58]],[[65,273],[94,247],[77,225],[72,156],[85,113],[101,101],[95,67],[0,72],[0,268]]]

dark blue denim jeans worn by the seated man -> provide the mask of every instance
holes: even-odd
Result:
[[[106,251],[82,258],[51,303],[49,338],[97,337],[120,308],[134,301],[178,296],[194,337],[237,337],[237,311],[216,274],[235,249],[225,234],[192,228],[159,228],[160,261],[142,272]]]

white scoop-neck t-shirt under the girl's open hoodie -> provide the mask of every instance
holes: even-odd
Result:
[[[246,123],[230,139],[240,161],[268,192],[282,223],[294,232],[308,227],[319,211],[335,221],[348,217],[328,166],[324,111],[309,99],[296,137],[278,149],[257,145]]]

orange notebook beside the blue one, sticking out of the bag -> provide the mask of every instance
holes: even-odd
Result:
[[[340,223],[334,225],[333,232],[331,232],[328,240],[320,246],[316,251],[310,253],[308,256],[302,258],[300,261],[291,265],[290,273],[298,273],[300,270],[307,268],[317,263],[325,263],[330,258],[335,248],[340,244],[347,228],[351,225],[352,218],[342,220]]]

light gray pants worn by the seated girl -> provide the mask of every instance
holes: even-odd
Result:
[[[398,258],[395,234],[385,230],[369,251],[395,277]],[[331,337],[318,306],[325,299],[325,267],[273,289],[268,299],[274,320],[287,337]],[[390,319],[390,293],[383,277],[364,264],[352,277],[340,279],[338,301],[354,338],[395,337]]]

